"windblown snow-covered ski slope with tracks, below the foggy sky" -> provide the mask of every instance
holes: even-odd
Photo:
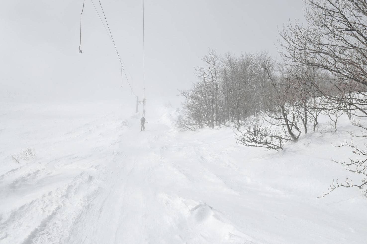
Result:
[[[366,243],[357,189],[332,147],[354,129],[310,133],[281,152],[237,145],[230,128],[179,132],[176,107],[140,115],[107,101],[0,106],[0,243]],[[12,161],[26,147],[29,161]],[[353,177],[353,176],[352,176]]]

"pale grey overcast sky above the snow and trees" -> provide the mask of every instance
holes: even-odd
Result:
[[[98,0],[93,0],[103,18]],[[143,89],[142,0],[101,0],[138,96]],[[131,97],[115,47],[91,0],[1,0],[2,99],[83,100]],[[170,96],[196,80],[208,48],[218,53],[268,50],[277,26],[303,22],[301,0],[145,0],[146,97]]]

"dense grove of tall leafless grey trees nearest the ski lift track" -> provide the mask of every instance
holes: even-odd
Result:
[[[181,91],[186,98],[181,129],[196,130],[209,126],[239,128],[252,115],[259,115],[268,103],[269,76],[264,63],[271,60],[266,53],[217,55],[210,50],[201,58],[203,67],[196,68],[198,82],[190,90]]]

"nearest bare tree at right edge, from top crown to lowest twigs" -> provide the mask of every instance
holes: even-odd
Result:
[[[316,67],[329,73],[327,86],[316,85],[316,88],[324,97],[324,112],[337,130],[337,120],[342,112],[346,112],[350,120],[352,116],[367,116],[367,1],[304,2],[308,26],[288,23],[280,31],[279,53],[294,66]],[[363,125],[355,125],[366,129]],[[352,148],[353,153],[366,158],[366,150],[360,149],[353,142],[356,136],[351,135],[351,142],[340,147]],[[367,147],[365,143],[364,147]],[[348,171],[366,176],[366,160],[334,161]],[[366,178],[362,184],[354,184],[349,179],[345,183],[337,180],[321,197],[338,187],[359,187],[362,190],[366,182]]]

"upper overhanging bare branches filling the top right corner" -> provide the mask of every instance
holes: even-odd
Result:
[[[279,41],[284,60],[367,85],[367,2],[304,0],[308,26],[288,23]]]

